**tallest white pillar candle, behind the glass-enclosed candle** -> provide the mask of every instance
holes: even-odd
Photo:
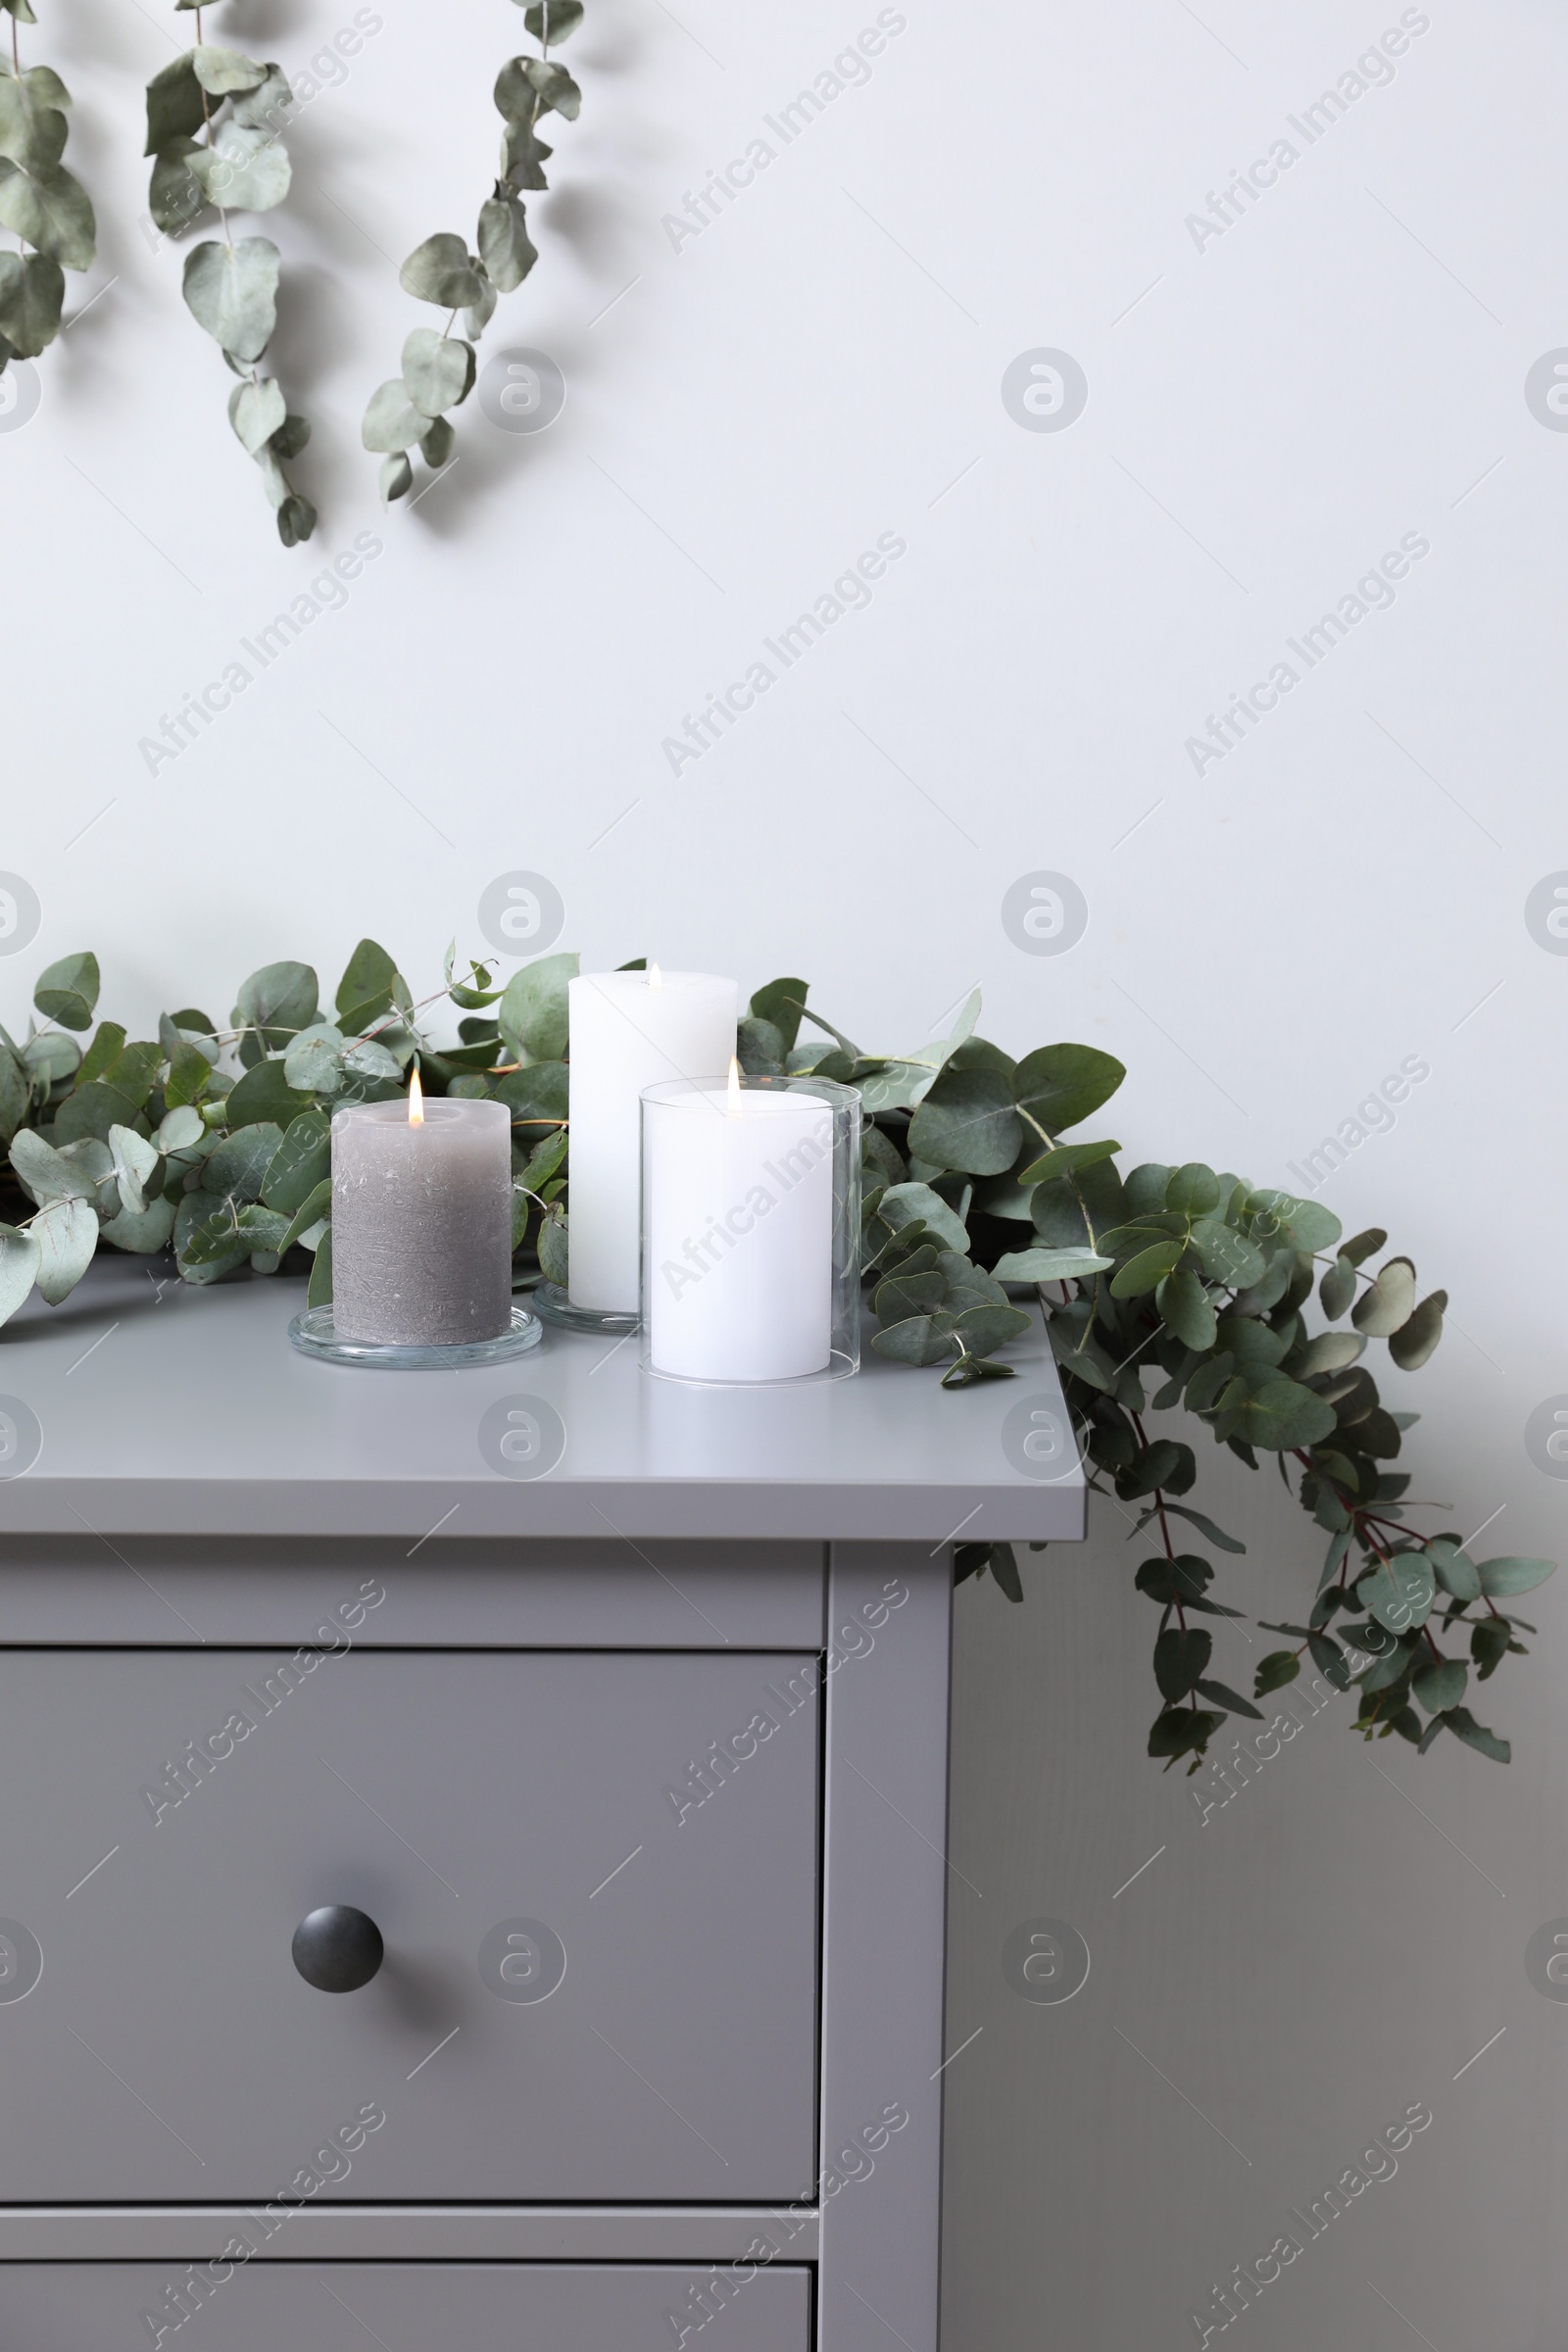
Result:
[[[708,971],[588,971],[571,1021],[569,1275],[574,1308],[637,1312],[639,1096],[715,1077],[736,1051],[736,983]]]

